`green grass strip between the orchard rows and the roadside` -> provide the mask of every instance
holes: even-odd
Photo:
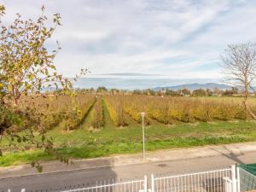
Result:
[[[128,127],[116,128],[109,121],[108,112],[105,113],[104,118],[105,127],[99,131],[88,131],[87,125],[84,124],[76,131],[67,132],[56,128],[49,131],[48,135],[54,138],[57,151],[68,158],[94,158],[141,151],[140,125],[131,122]],[[146,150],[256,141],[255,128],[256,123],[253,121],[177,123],[171,126],[153,122],[146,128]],[[55,160],[55,157],[40,150],[13,151],[5,153],[0,158],[0,166],[30,163],[34,160]]]

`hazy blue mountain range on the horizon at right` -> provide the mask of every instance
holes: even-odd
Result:
[[[213,90],[215,88],[218,88],[218,90],[230,90],[232,89],[232,86],[228,84],[216,84],[216,83],[207,83],[207,84],[179,84],[175,86],[166,86],[166,87],[155,87],[153,90],[162,90],[162,89],[168,89],[168,90],[182,90],[182,89],[188,89],[188,90]]]

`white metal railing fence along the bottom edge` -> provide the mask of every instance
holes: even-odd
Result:
[[[236,172],[239,170],[239,172]],[[55,190],[55,192],[240,192],[247,189],[256,189],[256,178],[252,174],[231,166],[226,169],[208,172],[194,172],[189,174],[166,175],[120,181],[114,180],[96,182],[94,185],[73,189]],[[237,173],[237,174],[236,174]],[[237,175],[241,176],[236,179]],[[243,179],[246,178],[246,179]],[[248,188],[248,186],[250,186]],[[12,192],[12,191],[9,191]],[[21,192],[26,192],[22,189]]]

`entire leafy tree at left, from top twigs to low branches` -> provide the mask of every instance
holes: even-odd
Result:
[[[4,7],[0,5],[0,16],[4,15]],[[20,102],[25,98],[33,99],[45,87],[54,86],[62,93],[74,96],[73,81],[57,73],[54,59],[61,49],[57,43],[56,49],[49,51],[45,43],[49,41],[57,26],[61,26],[61,16],[53,15],[52,26],[48,17],[42,15],[38,20],[22,20],[17,14],[10,26],[1,26],[0,32],[0,137],[9,137],[10,144],[32,143],[37,148],[44,148],[53,153],[53,141],[45,136],[45,129],[40,122],[40,115],[32,105],[24,108]],[[49,27],[48,27],[49,26]],[[87,70],[81,70],[80,74]],[[78,79],[79,76],[76,76]],[[55,94],[60,92],[56,91]],[[18,132],[24,132],[22,136]],[[35,132],[39,132],[40,140]],[[22,146],[22,145],[20,145]],[[19,146],[17,146],[19,147]],[[22,148],[21,148],[22,149]],[[3,152],[0,148],[0,154]],[[61,158],[61,157],[60,157]],[[67,159],[61,158],[67,162]],[[38,171],[42,167],[32,163]]]

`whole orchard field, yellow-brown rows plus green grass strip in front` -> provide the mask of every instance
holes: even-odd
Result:
[[[250,98],[249,105],[256,113],[254,100]],[[31,102],[27,96],[22,105],[26,108]],[[33,102],[47,136],[68,158],[140,152],[141,112],[146,113],[146,150],[256,141],[256,122],[249,116],[246,119],[242,98],[236,96],[79,94],[75,100],[49,95]],[[25,151],[17,151],[9,142],[3,137],[0,166],[55,159],[29,143],[22,144]]]

